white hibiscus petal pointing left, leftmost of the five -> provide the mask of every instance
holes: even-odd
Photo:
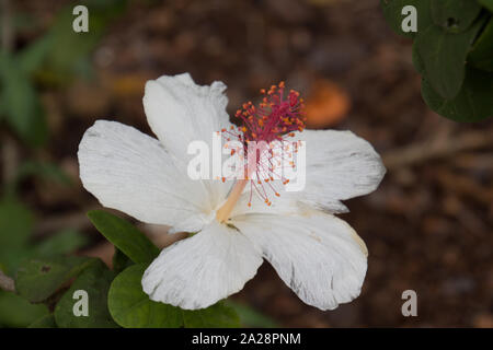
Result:
[[[158,140],[98,120],[85,131],[78,156],[83,186],[104,207],[192,232],[207,222],[207,191],[174,165]]]

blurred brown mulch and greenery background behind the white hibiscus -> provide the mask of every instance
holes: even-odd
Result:
[[[493,120],[456,124],[421,97],[411,40],[378,0],[0,0],[0,268],[113,246],[85,217],[98,201],[77,150],[96,119],[149,132],[145,82],[190,72],[228,85],[232,114],[286,81],[310,128],[351,129],[382,154],[380,188],[342,215],[365,240],[362,295],[332,312],[305,305],[264,264],[232,298],[285,327],[493,327]],[[89,33],[72,9],[89,8]],[[160,246],[162,228],[140,226]],[[417,293],[417,317],[401,294]],[[0,294],[0,325],[23,325]]]

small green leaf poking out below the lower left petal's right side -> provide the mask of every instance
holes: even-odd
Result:
[[[202,310],[183,310],[183,322],[186,328],[239,328],[240,317],[234,308],[219,302]]]

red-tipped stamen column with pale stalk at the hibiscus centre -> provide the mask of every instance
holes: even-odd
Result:
[[[293,154],[297,153],[299,142],[288,142],[287,138],[294,137],[295,131],[305,129],[307,118],[302,110],[303,100],[295,90],[286,93],[284,82],[272,85],[268,91],[262,89],[261,93],[263,97],[259,106],[248,102],[242,109],[237,110],[236,117],[240,119],[241,126],[221,130],[221,136],[227,141],[225,148],[229,147],[228,142],[231,140],[240,141],[241,147],[231,148],[231,155],[238,153],[237,156],[246,162],[244,177],[237,179],[227,201],[217,211],[219,222],[228,220],[248,183],[249,207],[253,190],[271,206],[268,194],[279,196],[274,179],[280,179],[286,185],[289,179],[284,176],[283,168],[295,167]],[[222,177],[222,182],[225,180],[226,177]]]

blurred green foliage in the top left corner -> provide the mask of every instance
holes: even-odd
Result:
[[[48,138],[41,86],[60,86],[74,77],[91,77],[90,55],[125,0],[85,1],[90,30],[72,30],[73,5],[58,13],[51,28],[19,52],[0,51],[0,120],[24,142],[43,145]]]

